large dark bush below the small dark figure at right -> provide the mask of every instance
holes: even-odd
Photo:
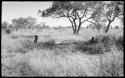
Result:
[[[96,36],[95,39],[97,40],[95,43],[91,43],[90,40],[79,43],[76,49],[89,54],[102,54],[104,52],[110,52],[111,45],[115,42],[112,36]]]

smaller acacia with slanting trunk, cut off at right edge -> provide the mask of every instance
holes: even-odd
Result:
[[[106,4],[105,17],[108,21],[107,28],[105,32],[107,33],[111,23],[115,20],[115,18],[123,19],[124,12],[124,2],[123,1],[111,1]]]

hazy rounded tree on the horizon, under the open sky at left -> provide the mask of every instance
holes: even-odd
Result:
[[[31,28],[35,25],[36,19],[32,17],[12,19],[15,28]]]

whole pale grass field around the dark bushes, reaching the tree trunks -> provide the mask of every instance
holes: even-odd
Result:
[[[36,45],[34,35],[39,36]],[[96,29],[81,29],[79,35],[74,35],[72,29],[21,29],[11,34],[2,31],[2,76],[123,76],[123,51],[114,45],[110,52],[95,55],[73,50],[72,45],[42,45],[51,40],[56,44],[65,40],[88,41],[97,35],[119,37],[123,36],[123,29],[111,29],[107,34],[103,30],[98,33]]]

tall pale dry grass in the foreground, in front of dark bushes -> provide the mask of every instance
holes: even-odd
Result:
[[[2,40],[1,66],[4,77],[123,76],[124,73],[123,51],[116,46],[104,54],[86,55],[69,49],[43,49],[43,43],[34,45],[23,38],[7,38]]]

